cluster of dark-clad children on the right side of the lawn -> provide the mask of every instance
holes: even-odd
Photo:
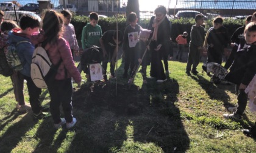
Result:
[[[236,107],[227,108],[233,114],[224,114],[223,117],[233,121],[239,121],[246,109],[248,93],[250,95],[249,106],[251,110],[256,110],[254,78],[256,75],[256,12],[246,18],[246,25],[235,31],[231,41],[227,35],[227,29],[223,26],[223,19],[220,16],[213,19],[213,27],[208,30],[206,36],[204,35],[204,27],[202,27],[204,16],[197,15],[195,20],[196,24],[192,26],[190,32],[191,41],[186,73],[188,76],[191,75],[190,72],[197,75],[196,68],[203,49],[207,48],[207,63],[218,63],[221,65],[222,56],[227,46],[230,45],[233,47],[232,53],[224,66],[226,69],[230,68],[230,72],[227,73],[225,79],[236,84],[238,103]],[[185,39],[185,36],[182,35],[179,35],[176,39],[179,52],[182,50],[181,46],[183,45],[180,43],[180,40],[184,42],[183,39]],[[177,54],[176,58],[178,57],[179,54]],[[254,80],[252,80],[253,78]],[[249,83],[251,85],[246,88]],[[256,125],[250,130],[245,129],[244,133],[256,137]]]

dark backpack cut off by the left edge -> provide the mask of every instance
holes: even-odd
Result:
[[[13,69],[9,66],[6,55],[4,53],[4,47],[0,49],[0,74],[4,77],[9,77],[13,74]]]

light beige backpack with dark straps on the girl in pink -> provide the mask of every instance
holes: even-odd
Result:
[[[62,59],[54,66],[49,59],[47,51],[41,46],[36,47],[32,56],[30,70],[30,75],[35,86],[38,88],[47,88],[48,84],[52,84],[60,63],[62,63]]]

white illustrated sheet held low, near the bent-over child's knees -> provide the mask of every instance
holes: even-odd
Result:
[[[103,79],[102,66],[100,63],[90,64],[90,76],[91,81],[97,81]]]

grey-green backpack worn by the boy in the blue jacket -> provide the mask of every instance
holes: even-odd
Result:
[[[21,64],[20,58],[17,54],[16,47],[21,44],[21,43],[29,43],[29,41],[19,41],[16,44],[9,44],[7,47],[7,53],[6,53],[6,58],[8,61],[8,64],[10,67],[12,67],[13,70],[22,70],[23,66]]]

